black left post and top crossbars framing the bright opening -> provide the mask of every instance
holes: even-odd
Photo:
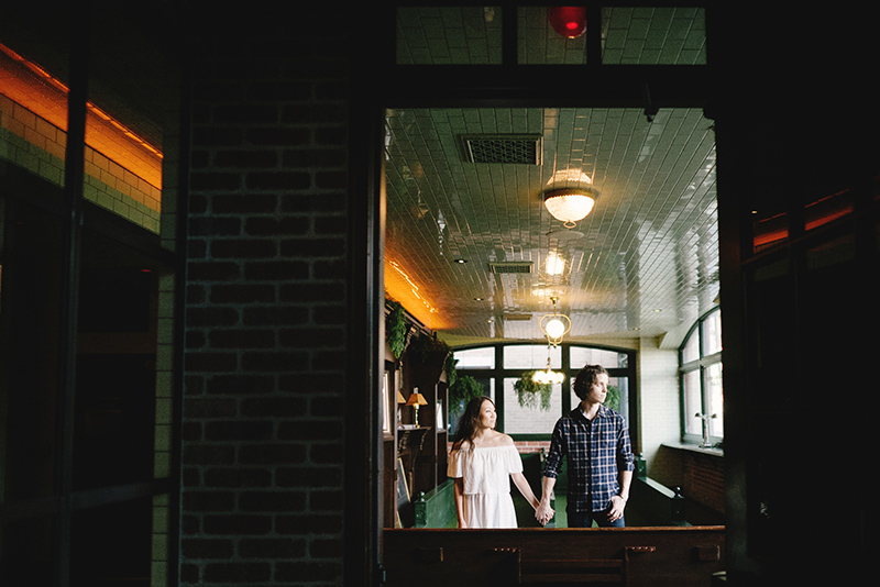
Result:
[[[384,112],[387,108],[442,107],[605,107],[639,108],[650,117],[657,108],[711,110],[712,76],[700,66],[602,66],[597,27],[587,32],[588,65],[517,65],[516,8],[552,5],[552,2],[495,2],[504,10],[502,65],[397,65],[396,9],[406,3],[383,3],[358,13],[377,23],[365,31],[353,55],[352,86],[370,88],[352,98],[350,148],[350,275],[349,374],[346,383],[348,433],[345,446],[345,583],[382,583],[381,495],[382,479],[380,385],[383,374],[384,288]],[[483,5],[479,2],[436,2],[435,5]],[[596,22],[602,5],[645,5],[645,2],[596,2],[587,18]],[[711,10],[705,2],[674,2],[676,7],[706,9],[707,43]],[[547,79],[563,69],[570,76],[566,92]],[[366,156],[362,156],[366,154]],[[364,307],[367,312],[364,312]]]

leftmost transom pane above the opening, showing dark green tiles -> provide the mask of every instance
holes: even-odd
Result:
[[[398,8],[397,63],[501,64],[501,7]]]

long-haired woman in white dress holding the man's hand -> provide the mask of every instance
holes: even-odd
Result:
[[[447,472],[455,479],[459,528],[517,527],[508,475],[532,508],[540,505],[514,440],[495,430],[496,418],[487,397],[472,399],[461,418]]]

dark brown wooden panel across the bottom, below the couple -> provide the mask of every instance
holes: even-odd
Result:
[[[707,586],[724,567],[723,527],[435,530],[383,534],[388,587],[616,583]]]

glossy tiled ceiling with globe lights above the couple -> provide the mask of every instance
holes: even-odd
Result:
[[[413,10],[422,10],[419,22],[424,11],[438,16],[433,30],[442,30],[441,9]],[[451,21],[462,22],[464,9],[454,10],[459,20]],[[472,36],[490,30],[491,37],[485,13],[470,10],[484,26],[462,30]],[[631,22],[628,10],[605,22]],[[693,10],[678,20],[674,10],[663,13],[663,21],[676,31],[667,36],[678,54],[698,60],[700,43],[689,36],[700,29]],[[638,30],[646,34],[625,41],[644,51],[657,31],[647,34],[649,24]],[[428,36],[433,48],[422,58],[442,35]],[[537,137],[539,163],[470,163],[465,135]],[[568,340],[680,337],[717,297],[714,135],[700,110],[661,109],[652,121],[637,109],[552,104],[389,110],[386,141],[386,259],[418,288],[432,315],[442,317],[439,335],[450,344],[541,340],[538,323],[552,312],[551,296],[572,319]],[[558,237],[572,233],[542,204],[560,173],[583,174],[601,193],[578,223],[580,237]],[[561,275],[548,273],[553,256],[565,262]],[[494,273],[496,262],[531,262],[531,272]]]

